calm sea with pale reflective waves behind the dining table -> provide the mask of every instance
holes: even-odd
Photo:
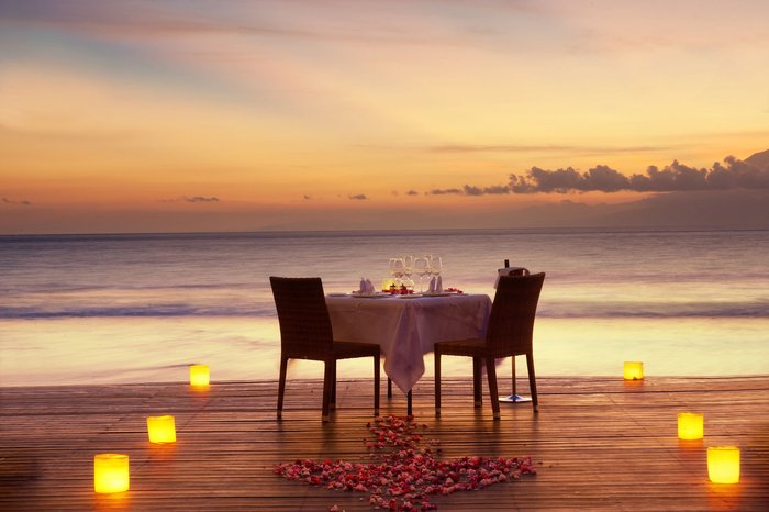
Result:
[[[183,381],[193,363],[214,381],[275,379],[269,276],[352,291],[404,254],[441,256],[445,287],[491,297],[504,259],[547,272],[539,377],[620,376],[624,360],[648,376],[769,367],[769,231],[29,235],[0,236],[0,386]],[[447,375],[471,374],[450,359]],[[339,378],[369,366],[344,361]],[[321,364],[290,368],[321,376]]]

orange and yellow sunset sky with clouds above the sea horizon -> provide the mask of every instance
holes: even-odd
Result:
[[[0,0],[0,234],[769,227],[769,168],[742,162],[769,149],[768,20],[766,0]]]

